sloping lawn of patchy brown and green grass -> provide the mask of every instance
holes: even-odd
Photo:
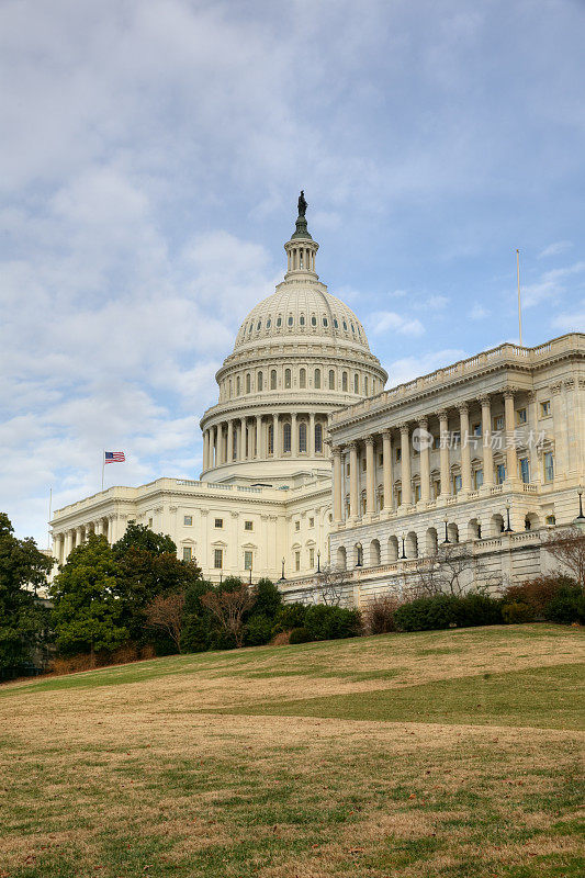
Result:
[[[576,878],[583,655],[535,624],[4,685],[0,878]]]

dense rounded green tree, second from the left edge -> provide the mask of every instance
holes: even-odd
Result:
[[[117,573],[105,537],[90,534],[69,554],[49,592],[55,601],[53,621],[61,653],[112,652],[128,640],[124,604],[116,589]]]

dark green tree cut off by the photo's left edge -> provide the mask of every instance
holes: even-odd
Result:
[[[46,614],[30,587],[46,583],[53,560],[34,540],[19,540],[5,513],[0,513],[0,668],[31,661],[46,629]]]

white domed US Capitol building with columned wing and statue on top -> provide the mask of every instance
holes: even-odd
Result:
[[[111,487],[58,509],[53,555],[130,520],[168,533],[205,578],[278,581],[310,599],[346,571],[348,603],[402,587],[460,543],[505,579],[545,569],[585,474],[585,335],[511,344],[384,391],[360,320],[315,271],[306,202],[286,273],[248,314],[201,419],[199,480]]]

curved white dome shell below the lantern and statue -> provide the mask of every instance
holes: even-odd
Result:
[[[351,308],[327,292],[324,284],[282,283],[254,307],[236,336],[234,351],[266,344],[268,339],[319,339],[349,342],[370,350],[365,330]],[[256,344],[255,344],[256,342]]]

